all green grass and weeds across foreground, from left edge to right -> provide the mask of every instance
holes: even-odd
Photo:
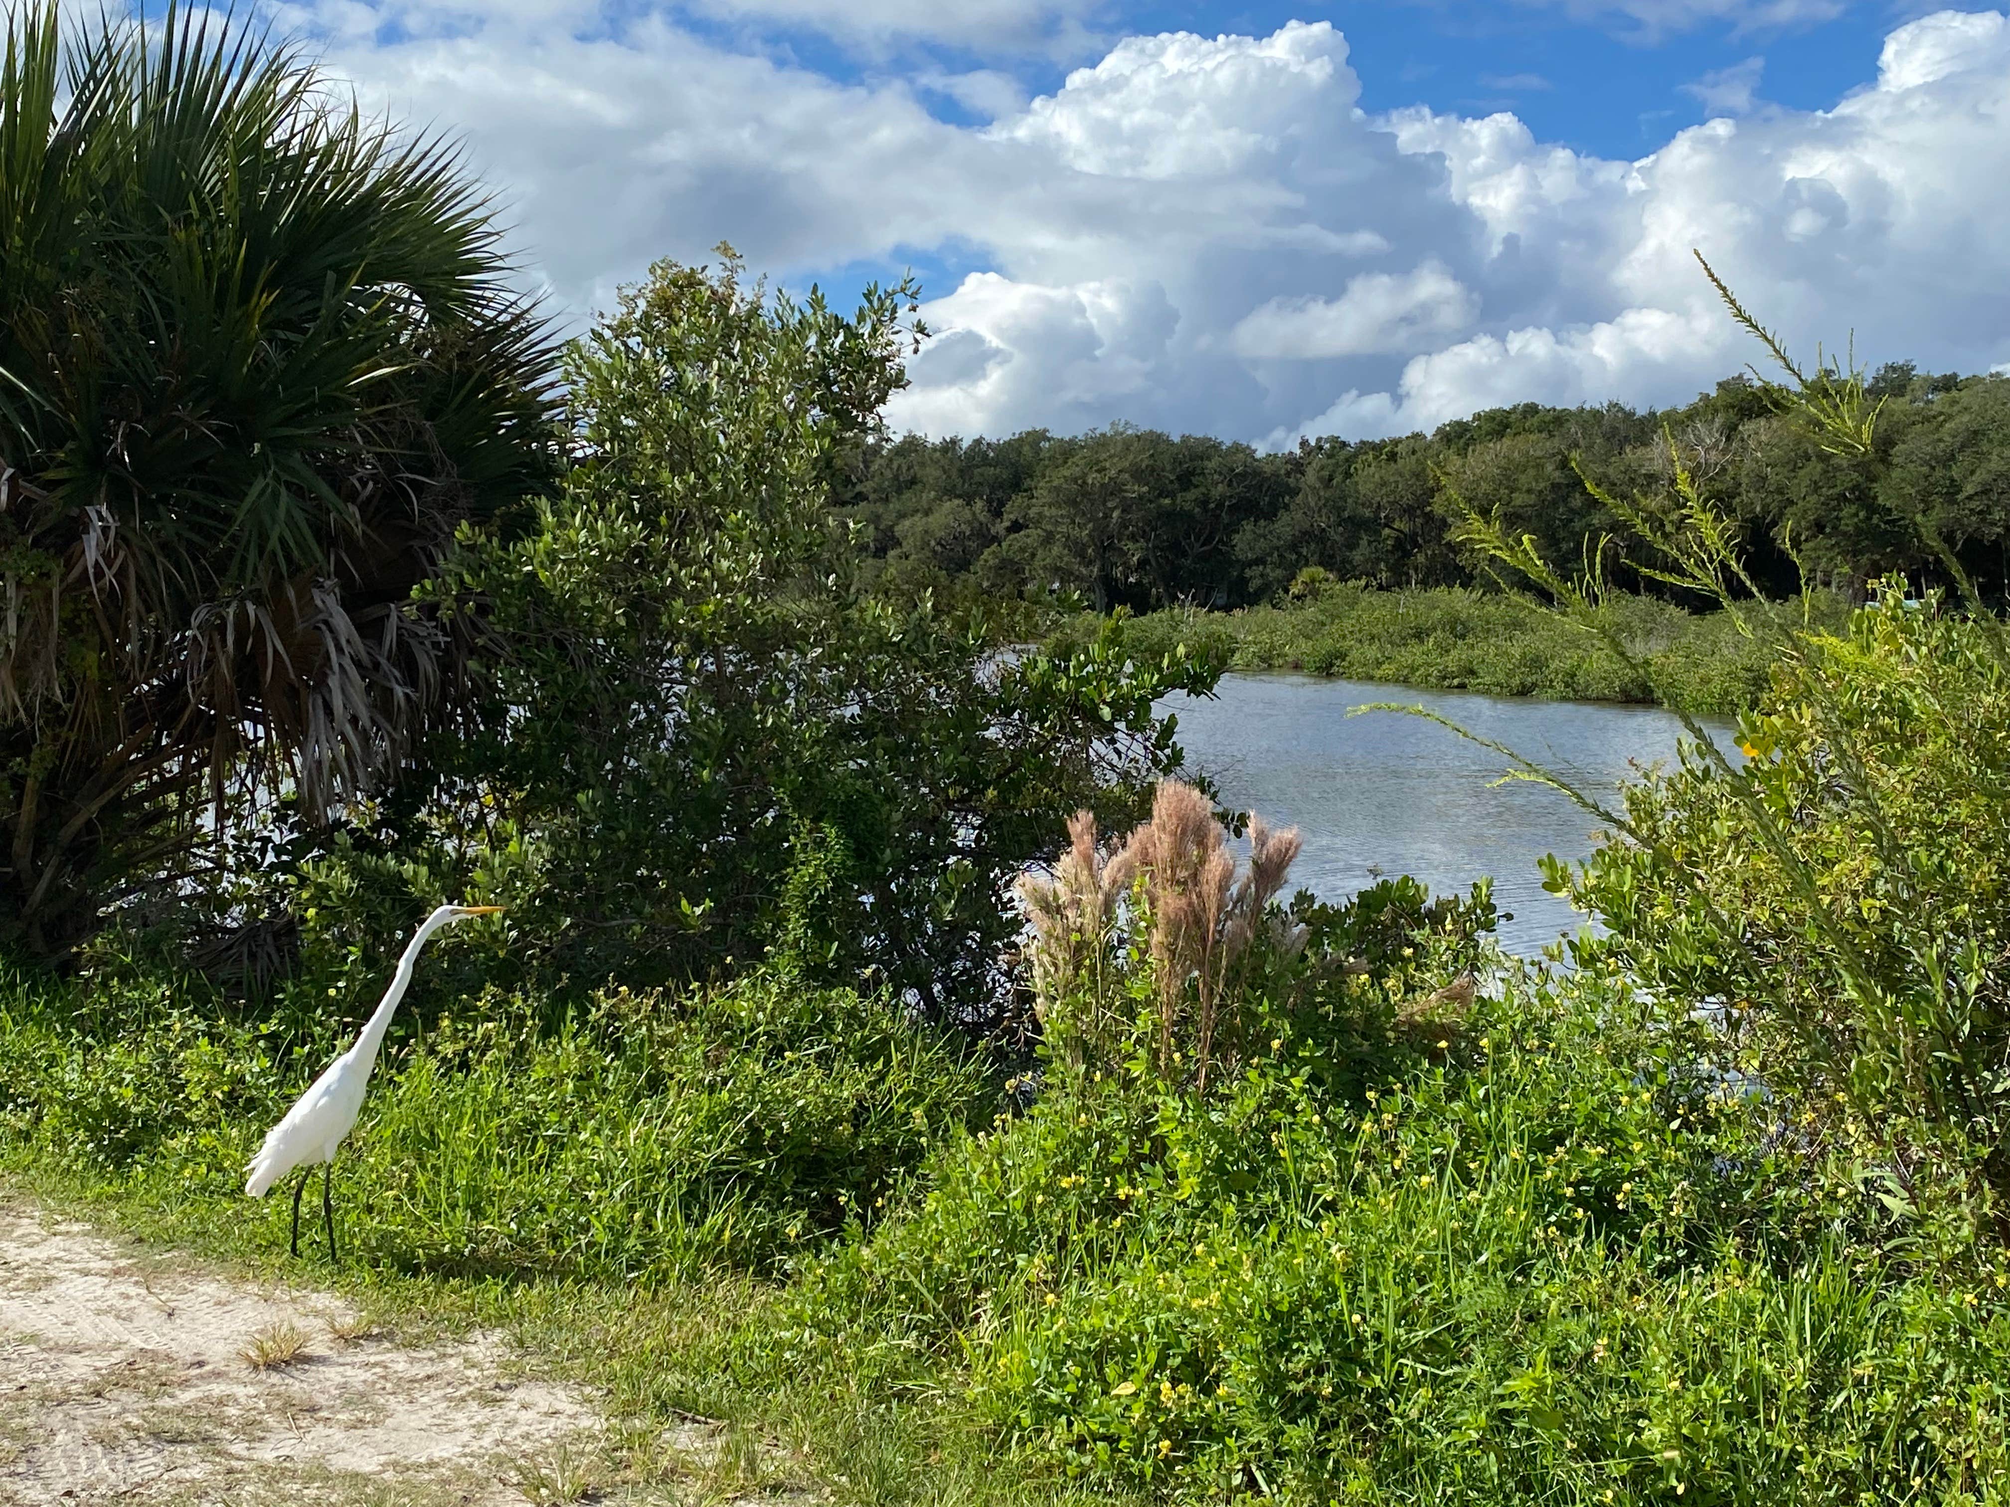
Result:
[[[476,1001],[394,1043],[306,1274],[603,1386],[631,1475],[701,1415],[842,1503],[2004,1499],[1998,1250],[1922,1244],[1596,958],[1375,1025],[1429,985],[1349,977],[1204,1097],[1140,1053],[1013,1113],[848,991]],[[277,1268],[237,1167],[320,1065],[281,1035],[16,981],[0,1167]]]

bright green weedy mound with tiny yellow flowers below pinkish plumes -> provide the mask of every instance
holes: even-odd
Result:
[[[1706,1025],[1598,971],[1357,1071],[1272,1029],[1208,1097],[1055,1073],[945,1145],[762,1364],[933,1354],[1027,1467],[1180,1501],[1998,1499],[2002,1266],[1881,1254]]]

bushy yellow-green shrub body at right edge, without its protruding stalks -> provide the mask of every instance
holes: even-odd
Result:
[[[1974,1167],[2010,1220],[2010,663],[1887,595],[1781,665],[1741,770],[1644,778],[1630,836],[1550,882],[1893,1198]]]

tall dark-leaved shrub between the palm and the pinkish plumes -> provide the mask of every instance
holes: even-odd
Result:
[[[724,977],[794,928],[820,983],[995,1025],[1001,886],[1069,812],[1130,816],[1178,768],[1154,701],[1212,671],[1110,637],[1001,657],[866,589],[832,482],[904,386],[915,289],[846,317],[722,251],[657,263],[569,348],[563,488],[436,585],[500,653],[428,782],[324,866],[490,882],[541,983]]]

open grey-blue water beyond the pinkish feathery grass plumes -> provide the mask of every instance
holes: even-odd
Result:
[[[1331,681],[1311,675],[1224,675],[1220,695],[1168,699],[1190,764],[1212,774],[1222,804],[1304,832],[1296,884],[1341,900],[1377,876],[1413,874],[1433,892],[1493,876],[1514,920],[1501,944],[1534,952],[1584,924],[1544,892],[1542,854],[1582,858],[1596,822],[1566,796],[1516,780],[1497,754],[1447,727],[1393,711],[1349,717],[1367,701],[1419,703],[1524,758],[1610,796],[1636,766],[1674,760],[1682,725],[1654,707],[1520,701],[1461,691]],[[1729,745],[1731,723],[1711,723]]]

